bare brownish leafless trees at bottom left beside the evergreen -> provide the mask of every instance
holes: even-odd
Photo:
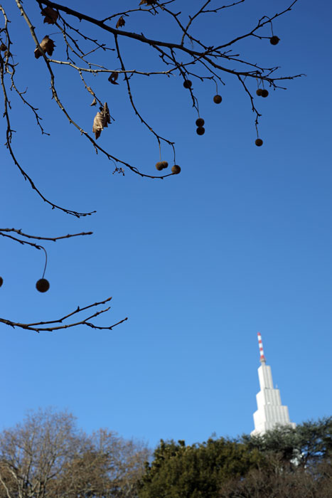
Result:
[[[0,433],[0,497],[134,497],[148,458],[141,443],[86,435],[70,413],[39,410]]]

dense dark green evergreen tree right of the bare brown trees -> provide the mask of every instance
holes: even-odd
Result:
[[[237,440],[194,445],[161,440],[139,483],[139,498],[215,498],[225,480],[245,476],[260,460],[256,448]]]

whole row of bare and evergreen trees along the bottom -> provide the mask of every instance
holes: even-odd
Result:
[[[331,498],[332,417],[264,435],[164,441],[152,453],[67,412],[0,433],[0,498]]]

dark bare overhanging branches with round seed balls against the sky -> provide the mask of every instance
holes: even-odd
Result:
[[[18,160],[14,147],[14,122],[12,117],[12,108],[10,100],[10,91],[16,92],[22,105],[27,106],[32,113],[36,126],[39,128],[41,135],[48,134],[42,124],[42,117],[38,110],[38,102],[30,102],[26,89],[21,89],[16,84],[17,75],[20,70],[18,60],[15,57],[15,29],[23,31],[28,28],[31,40],[33,41],[34,51],[31,51],[31,58],[37,59],[38,63],[45,65],[48,73],[48,83],[50,85],[50,98],[54,105],[58,106],[63,118],[68,120],[77,132],[82,135],[82,139],[90,142],[92,149],[109,161],[111,161],[114,172],[124,174],[130,171],[142,177],[150,179],[165,179],[167,176],[174,176],[180,173],[181,167],[176,164],[176,149],[172,137],[163,137],[159,134],[156,123],[151,123],[144,117],[144,110],[139,109],[136,105],[135,95],[132,90],[132,83],[135,80],[149,78],[165,78],[171,80],[177,78],[180,85],[188,91],[188,102],[197,112],[197,133],[205,132],[203,119],[200,117],[198,96],[193,87],[193,82],[199,80],[204,85],[211,85],[215,88],[214,102],[220,104],[222,97],[220,89],[227,82],[235,80],[247,95],[248,105],[251,106],[254,115],[255,129],[257,132],[256,145],[262,145],[262,139],[259,137],[259,98],[266,97],[271,90],[284,88],[287,80],[298,78],[301,75],[283,75],[279,67],[265,67],[259,65],[256,60],[249,60],[245,55],[241,55],[238,46],[243,41],[249,41],[250,38],[267,40],[269,43],[276,45],[279,42],[278,36],[274,34],[274,22],[279,17],[284,16],[291,11],[297,0],[291,1],[274,14],[262,13],[253,26],[248,26],[247,30],[237,33],[237,36],[230,40],[220,39],[217,46],[210,46],[209,41],[204,38],[198,38],[193,29],[199,23],[205,26],[209,16],[223,16],[227,9],[239,9],[241,15],[241,5],[245,0],[230,1],[223,3],[220,0],[200,0],[190,2],[190,12],[188,14],[188,2],[183,0],[127,0],[122,2],[111,2],[107,16],[100,16],[99,2],[95,2],[95,16],[90,16],[84,11],[71,9],[67,4],[58,4],[50,0],[31,0],[23,2],[19,0],[9,0],[11,5],[15,6],[21,14],[21,26],[13,26],[6,13],[6,4],[0,4],[1,24],[0,24],[0,83],[3,92],[3,115],[6,120],[6,148],[11,156],[14,166],[18,168],[27,184],[48,206],[53,209],[62,211],[65,214],[80,218],[90,216],[91,212],[80,212],[66,206],[60,206],[48,195],[38,188],[38,182],[32,179],[26,170],[25,164]],[[38,6],[38,11],[36,10]],[[117,11],[119,7],[119,11]],[[186,8],[185,8],[186,7]],[[273,9],[275,6],[273,7]],[[270,9],[269,9],[270,10]],[[102,11],[102,9],[100,10]],[[38,14],[36,14],[38,12]],[[170,29],[170,39],[155,39],[149,36],[149,33],[139,31],[139,22],[137,31],[126,31],[126,23],[129,18],[139,19],[141,16],[149,18],[151,24],[166,23]],[[26,26],[23,26],[25,23]],[[38,38],[37,31],[41,31],[41,26],[52,26],[57,35],[56,40],[51,35],[45,35]],[[38,28],[38,30],[37,30]],[[95,36],[91,35],[93,33]],[[46,29],[45,29],[46,31]],[[53,30],[52,30],[53,31]],[[203,30],[203,32],[205,32]],[[102,40],[107,34],[109,42],[103,43]],[[125,41],[132,41],[136,46],[135,51],[149,51],[149,54],[155,55],[149,61],[155,60],[153,67],[146,67],[144,70],[132,67],[132,57],[126,51]],[[56,42],[56,43],[55,43]],[[243,46],[243,43],[242,45]],[[100,53],[107,54],[105,63],[100,63]],[[106,62],[108,61],[108,62]],[[55,67],[62,68],[68,73],[68,78],[76,73],[80,84],[91,97],[91,105],[95,106],[95,117],[91,122],[90,129],[84,129],[79,120],[72,115],[71,110],[63,103],[63,95],[60,95],[55,78]],[[112,109],[105,102],[103,95],[97,95],[94,90],[95,78],[104,78],[105,85],[124,85],[127,89],[127,98],[132,107],[133,114],[146,128],[146,132],[152,134],[156,140],[156,147],[159,148],[160,161],[156,164],[156,170],[146,171],[139,167],[139,164],[129,164],[126,157],[116,157],[112,152],[100,144],[101,134],[107,133],[107,128],[114,121]],[[90,108],[87,109],[87,112]],[[43,139],[43,137],[39,138]],[[168,163],[162,161],[164,149],[170,148],[173,157],[173,165],[166,169]],[[163,170],[169,172],[163,172]],[[161,171],[161,174],[159,172]],[[33,236],[17,228],[2,228],[0,235],[24,245],[31,245],[36,249],[45,252],[46,261],[47,253],[40,241],[56,241],[61,238],[70,238],[78,235],[89,235],[90,233],[75,233],[62,235],[60,237],[41,237]],[[38,240],[38,242],[36,242]],[[45,271],[44,271],[45,273]],[[44,278],[44,275],[43,275]],[[2,282],[0,282],[2,283]],[[40,289],[38,289],[40,290]],[[86,307],[75,309],[64,317],[53,319],[49,322],[36,321],[31,324],[22,324],[13,319],[0,319],[0,322],[11,325],[12,327],[22,327],[23,329],[34,330],[36,332],[51,331],[65,327],[73,327],[77,324],[85,324],[88,327],[96,327],[90,320],[107,309],[92,312],[90,316],[83,319],[77,319],[74,322],[68,322],[68,319],[76,316],[77,313],[94,308],[99,304],[105,304],[108,300],[100,303],[89,304]],[[123,320],[122,320],[123,321]],[[121,321],[121,322],[122,322]],[[115,325],[115,324],[114,324]],[[114,325],[109,326],[111,329]],[[106,327],[105,327],[106,328]]]

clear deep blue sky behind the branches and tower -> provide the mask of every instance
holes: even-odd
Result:
[[[112,295],[112,310],[98,323],[129,319],[112,332],[36,334],[1,325],[0,428],[29,408],[51,405],[73,412],[87,432],[107,427],[151,446],[160,438],[193,443],[213,432],[249,433],[259,390],[258,331],[291,420],[331,415],[331,5],[300,0],[274,25],[278,46],[257,39],[239,47],[257,63],[281,65],[281,74],[306,73],[287,91],[259,100],[263,147],[255,147],[250,102],[232,78],[220,89],[220,105],[212,102],[212,84],[194,84],[203,137],[178,78],[133,78],[144,117],[176,142],[181,174],[159,181],[113,175],[112,164],[65,121],[50,101],[48,74],[33,58],[23,18],[13,0],[6,4],[18,83],[28,87],[51,133],[41,137],[33,115],[11,95],[18,159],[48,198],[97,213],[77,220],[52,211],[2,147],[1,226],[94,235],[48,244],[45,295],[35,289],[43,254],[1,240],[0,316],[50,319]],[[86,0],[66,4],[87,14],[94,8]],[[100,4],[106,16],[108,2]],[[210,44],[223,43],[276,10],[277,2],[247,0],[205,16],[198,32]],[[39,9],[28,12],[40,38],[56,31],[43,25]],[[158,22],[129,18],[126,29],[178,39]],[[112,43],[107,36],[103,41]],[[53,38],[61,51],[60,35]],[[149,51],[122,45],[131,51],[129,66],[160,68]],[[119,67],[112,53],[106,56]],[[90,130],[95,109],[80,78],[59,67],[55,75],[63,101]],[[124,83],[105,80],[92,83],[116,121],[100,145],[154,174],[154,139],[134,117]],[[4,144],[4,120],[1,136]],[[171,162],[171,151],[163,150]]]

